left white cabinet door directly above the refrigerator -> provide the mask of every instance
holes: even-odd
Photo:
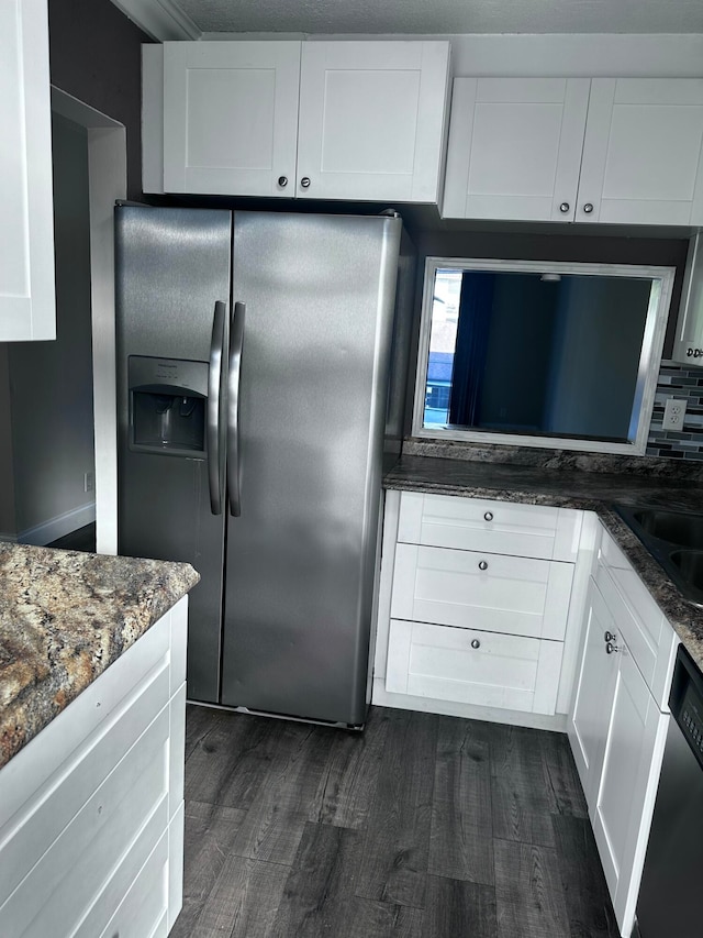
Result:
[[[294,195],[300,45],[165,43],[166,192]]]

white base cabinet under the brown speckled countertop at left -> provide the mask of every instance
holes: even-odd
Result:
[[[167,935],[182,904],[187,600],[0,771],[0,935]]]

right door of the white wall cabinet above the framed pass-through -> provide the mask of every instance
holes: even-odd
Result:
[[[577,221],[703,223],[703,79],[594,78]]]

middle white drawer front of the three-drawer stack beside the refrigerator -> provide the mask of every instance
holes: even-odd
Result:
[[[568,563],[398,544],[391,616],[561,640],[572,578]]]

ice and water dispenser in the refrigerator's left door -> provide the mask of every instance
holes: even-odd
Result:
[[[130,449],[204,457],[208,364],[131,355]]]

